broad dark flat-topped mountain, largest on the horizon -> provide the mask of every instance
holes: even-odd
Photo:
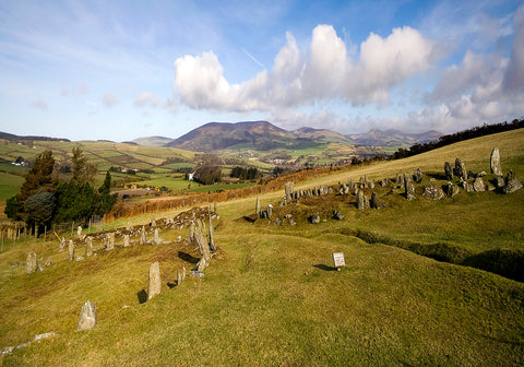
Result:
[[[296,137],[267,121],[210,122],[167,143],[165,146],[196,152],[212,152],[234,146],[269,151],[289,147]]]

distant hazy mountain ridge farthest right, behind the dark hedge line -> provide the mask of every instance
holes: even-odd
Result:
[[[436,140],[441,135],[441,132],[434,130],[422,133],[405,133],[393,129],[385,131],[372,129],[367,133],[346,135],[346,138],[360,145],[410,146]]]

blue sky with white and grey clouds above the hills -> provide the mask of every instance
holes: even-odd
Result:
[[[522,1],[0,0],[0,131],[443,133],[524,116]]]

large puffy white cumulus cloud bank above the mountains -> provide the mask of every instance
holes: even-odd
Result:
[[[430,68],[437,60],[431,40],[410,27],[393,29],[386,38],[371,34],[360,45],[359,59],[331,25],[318,25],[307,52],[290,33],[274,59],[273,70],[230,84],[213,51],[187,55],[175,61],[175,90],[191,108],[274,110],[319,100],[341,99],[353,105],[384,103],[392,87]]]

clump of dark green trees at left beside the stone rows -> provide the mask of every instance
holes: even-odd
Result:
[[[80,146],[73,147],[69,180],[58,178],[52,152],[37,155],[20,192],[7,200],[4,213],[9,218],[23,221],[35,233],[53,224],[74,222],[86,225],[94,215],[108,213],[117,201],[110,193],[111,175],[95,188],[96,166],[87,163]]]

